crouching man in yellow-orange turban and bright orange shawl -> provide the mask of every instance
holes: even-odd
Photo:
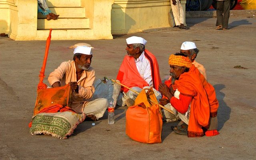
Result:
[[[169,64],[171,86],[169,88],[166,84],[160,84],[159,91],[168,98],[171,104],[169,109],[188,125],[176,128],[174,132],[188,137],[219,134],[218,100],[213,86],[185,54],[172,54]]]

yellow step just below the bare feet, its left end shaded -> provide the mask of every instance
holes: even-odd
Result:
[[[89,28],[89,18],[58,18],[57,20],[37,19],[37,29]]]

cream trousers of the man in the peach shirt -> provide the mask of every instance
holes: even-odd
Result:
[[[98,98],[96,100],[92,100],[84,106],[83,113],[85,113],[86,115],[93,114],[98,120],[106,112],[108,104],[109,102],[106,98]]]

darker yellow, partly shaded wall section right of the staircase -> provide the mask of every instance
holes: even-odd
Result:
[[[170,0],[115,0],[111,10],[112,34],[168,27],[170,9]]]

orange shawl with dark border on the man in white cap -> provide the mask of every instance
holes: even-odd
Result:
[[[158,86],[161,83],[158,62],[156,57],[148,50],[144,51],[144,55],[150,62],[153,86],[158,90]],[[148,83],[140,76],[140,73],[136,68],[134,57],[129,57],[127,55],[124,57],[116,79],[120,80],[120,83],[128,86],[129,88],[143,88],[144,86],[148,86]],[[121,91],[128,92],[128,90],[129,89],[121,86]]]

